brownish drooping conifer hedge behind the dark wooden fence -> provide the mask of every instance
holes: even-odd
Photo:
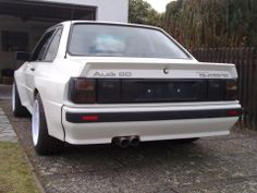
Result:
[[[164,28],[187,48],[256,46],[256,0],[178,0]]]

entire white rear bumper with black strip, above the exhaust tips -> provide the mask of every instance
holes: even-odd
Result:
[[[235,112],[240,111],[237,102],[106,108],[64,106],[62,124],[65,141],[71,144],[105,144],[115,136],[130,135],[138,135],[140,141],[160,141],[229,134],[238,119]]]

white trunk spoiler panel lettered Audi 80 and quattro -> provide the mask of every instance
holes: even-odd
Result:
[[[91,60],[81,76],[93,79],[236,79],[234,64],[191,60]]]

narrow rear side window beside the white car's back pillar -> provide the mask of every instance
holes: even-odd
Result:
[[[62,28],[58,28],[57,33],[54,34],[52,41],[47,50],[47,53],[45,57],[46,61],[53,61],[54,60],[57,52],[58,52],[61,35],[62,35]]]

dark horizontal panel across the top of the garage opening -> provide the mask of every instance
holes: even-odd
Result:
[[[11,15],[24,21],[95,20],[96,7],[50,1],[1,0],[0,15]]]

